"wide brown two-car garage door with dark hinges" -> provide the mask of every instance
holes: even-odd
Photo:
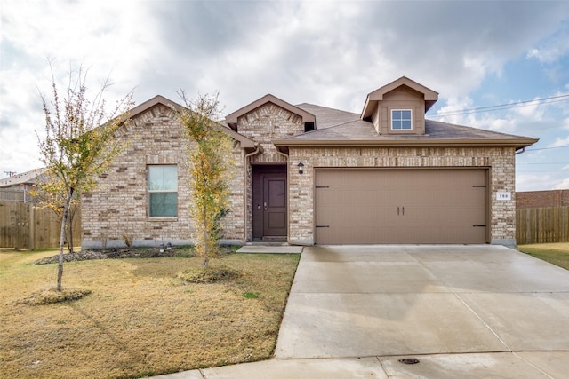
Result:
[[[317,170],[317,244],[485,243],[486,170]]]

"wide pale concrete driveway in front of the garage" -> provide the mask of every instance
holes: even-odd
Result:
[[[159,377],[565,378],[567,367],[569,271],[499,246],[343,246],[304,248],[276,359]]]

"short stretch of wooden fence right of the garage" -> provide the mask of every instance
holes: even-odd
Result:
[[[516,211],[517,243],[569,242],[569,207]]]

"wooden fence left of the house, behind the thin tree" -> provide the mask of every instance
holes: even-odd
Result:
[[[0,247],[57,248],[61,223],[52,209],[36,209],[33,202],[0,201]],[[73,220],[73,244],[81,244],[81,214]]]

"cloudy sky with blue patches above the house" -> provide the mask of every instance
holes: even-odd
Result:
[[[42,166],[51,59],[62,89],[83,64],[109,101],[220,91],[223,114],[267,93],[360,113],[405,75],[439,93],[430,119],[540,138],[518,191],[569,188],[566,1],[2,0],[0,16],[0,178]]]

